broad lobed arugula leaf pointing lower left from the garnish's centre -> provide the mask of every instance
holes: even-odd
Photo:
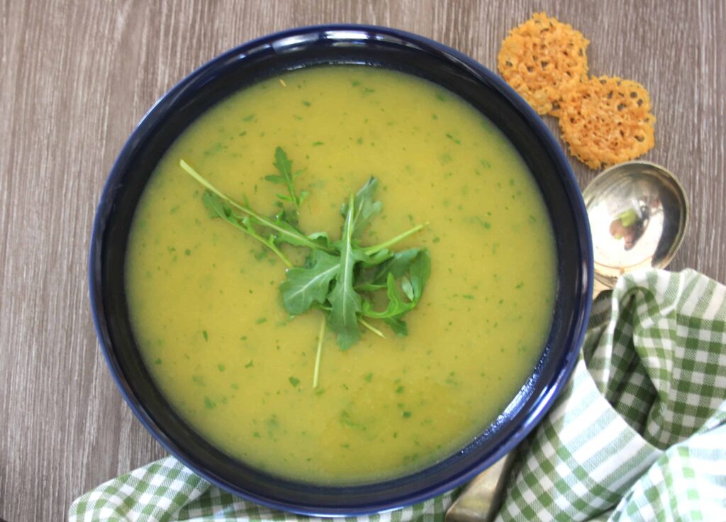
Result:
[[[304,314],[313,303],[325,303],[330,282],[338,276],[340,258],[315,250],[312,266],[287,270],[287,279],[280,285],[285,309],[291,315]]]

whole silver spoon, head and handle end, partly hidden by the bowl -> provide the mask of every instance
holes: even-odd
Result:
[[[618,278],[663,269],[683,242],[688,199],[678,179],[648,161],[628,161],[600,173],[582,192],[595,254],[593,298]],[[489,522],[499,513],[516,449],[480,473],[449,507],[446,522]]]

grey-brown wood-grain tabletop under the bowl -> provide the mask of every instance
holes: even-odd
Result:
[[[107,172],[158,97],[225,49],[318,23],[403,28],[495,68],[507,30],[541,9],[590,38],[591,73],[650,90],[645,159],[680,176],[692,205],[672,268],[726,280],[722,0],[0,0],[0,518],[61,520],[164,454],[107,370],[86,282]],[[582,186],[596,174],[573,166]]]

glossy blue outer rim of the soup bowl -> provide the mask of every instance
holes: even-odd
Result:
[[[415,44],[415,46],[428,50],[429,52],[435,52],[436,54],[439,54],[439,56],[443,56],[447,61],[457,65],[457,67],[465,68],[468,72],[474,73],[477,78],[483,78],[489,82],[495,90],[499,91],[499,94],[502,94],[507,101],[515,107],[518,113],[521,114],[523,120],[534,131],[534,134],[537,134],[539,139],[542,140],[544,148],[550,154],[552,163],[561,175],[561,181],[563,182],[566,196],[571,203],[571,211],[579,217],[580,223],[582,224],[582,226],[577,230],[577,235],[579,248],[582,253],[584,253],[584,258],[582,259],[582,263],[585,265],[582,273],[584,281],[579,283],[579,287],[582,288],[582,293],[578,297],[582,306],[580,307],[577,317],[573,322],[573,326],[571,327],[572,343],[566,351],[566,354],[563,354],[563,357],[566,357],[566,364],[563,364],[558,372],[555,372],[554,378],[552,378],[550,382],[544,386],[542,393],[540,393],[537,397],[528,415],[524,417],[519,428],[503,444],[499,444],[498,447],[492,449],[492,452],[489,453],[488,457],[476,462],[476,465],[472,465],[465,473],[450,477],[449,480],[433,487],[422,487],[417,494],[409,495],[405,499],[388,500],[387,502],[354,505],[350,507],[313,507],[285,502],[284,499],[268,499],[266,497],[260,497],[256,494],[250,494],[249,492],[240,490],[239,487],[229,484],[227,481],[215,476],[210,471],[200,468],[197,464],[195,464],[195,462],[190,461],[189,458],[187,458],[187,455],[180,454],[179,451],[171,445],[171,441],[166,438],[166,435],[158,433],[157,428],[154,423],[152,423],[152,420],[147,417],[145,412],[139,410],[139,407],[136,404],[139,401],[131,396],[130,390],[127,388],[126,384],[123,383],[120,372],[113,360],[113,356],[111,354],[113,348],[110,343],[110,338],[105,335],[105,325],[102,325],[102,318],[100,317],[104,307],[101,303],[102,297],[99,290],[98,279],[102,272],[99,266],[101,259],[100,252],[102,249],[102,237],[105,232],[107,213],[110,211],[111,200],[113,200],[113,196],[115,194],[115,186],[118,184],[118,180],[123,177],[123,173],[125,171],[125,168],[123,167],[128,162],[134,150],[136,150],[139,142],[142,142],[144,135],[147,132],[150,132],[155,124],[158,123],[158,119],[161,115],[166,113],[169,106],[173,106],[176,100],[179,99],[179,97],[181,97],[188,89],[195,89],[198,82],[203,80],[208,73],[211,73],[216,68],[219,68],[231,58],[246,57],[246,55],[253,54],[260,49],[268,49],[270,46],[273,46],[275,42],[280,42],[285,38],[317,34],[318,39],[325,38],[325,40],[333,41],[336,39],[335,33],[346,32],[354,32],[356,34],[360,33],[361,35],[364,33],[364,39],[366,41],[374,39],[374,36],[396,38],[399,41]],[[346,38],[346,41],[352,40],[351,38]],[[163,94],[163,96],[157,99],[150,109],[144,113],[139,122],[136,123],[133,131],[131,131],[131,135],[126,140],[125,144],[123,144],[121,152],[113,163],[102,189],[99,204],[97,205],[93,228],[91,231],[91,245],[89,250],[89,298],[91,304],[91,315],[93,317],[99,345],[116,386],[118,386],[123,399],[126,401],[126,404],[129,405],[131,411],[134,412],[136,418],[164,447],[164,449],[166,449],[167,452],[205,480],[219,486],[225,491],[232,492],[245,500],[256,502],[266,507],[303,515],[322,517],[354,516],[385,513],[387,511],[413,505],[417,502],[422,502],[425,499],[431,499],[439,494],[448,492],[454,487],[469,481],[486,468],[489,468],[489,466],[494,464],[494,462],[497,462],[499,458],[512,451],[515,446],[524,439],[524,437],[534,430],[544,415],[546,415],[550,410],[552,404],[555,402],[556,396],[560,393],[560,391],[562,391],[566,383],[568,383],[569,377],[574,370],[574,365],[576,363],[580,347],[582,346],[582,341],[584,340],[584,334],[587,328],[587,319],[590,316],[590,308],[592,305],[593,266],[592,237],[590,234],[589,221],[587,219],[587,211],[584,206],[582,192],[579,189],[579,184],[576,181],[566,155],[560,147],[560,144],[556,142],[555,137],[550,132],[550,129],[547,128],[539,115],[537,115],[534,109],[532,109],[529,104],[502,78],[499,78],[494,72],[492,72],[492,70],[489,70],[489,68],[486,68],[473,58],[468,57],[466,54],[463,54],[452,47],[441,44],[431,38],[419,36],[415,33],[409,33],[405,30],[364,24],[306,25],[255,38],[246,43],[234,46],[234,48],[229,49],[227,52],[223,52],[222,54],[213,57],[199,68],[193,70],[192,73],[189,73],[181,79],[181,81],[176,83],[176,85],[166,92],[166,94]]]

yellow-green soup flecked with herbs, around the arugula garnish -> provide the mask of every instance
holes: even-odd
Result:
[[[285,266],[211,219],[179,167],[272,215],[278,146],[304,169],[304,232],[340,237],[340,205],[370,176],[383,212],[364,244],[428,223],[394,248],[431,253],[409,335],[379,323],[386,338],[341,351],[328,330],[317,388],[319,312],[288,316]],[[403,73],[321,67],[234,94],[176,140],[136,210],[126,287],[144,361],[199,433],[280,476],[356,484],[430,465],[502,412],[542,353],[555,262],[537,185],[481,113]]]

